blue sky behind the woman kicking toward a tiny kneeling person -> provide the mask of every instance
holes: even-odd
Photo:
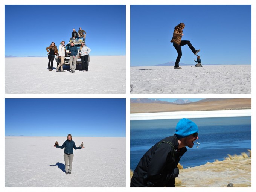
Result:
[[[176,61],[170,43],[174,27],[185,24],[202,64],[251,64],[251,5],[131,5],[131,66]],[[180,63],[196,64],[182,46]]]

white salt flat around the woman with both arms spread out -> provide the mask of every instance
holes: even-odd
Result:
[[[125,187],[125,138],[73,137],[72,174],[64,172],[66,137],[5,137],[5,187]]]

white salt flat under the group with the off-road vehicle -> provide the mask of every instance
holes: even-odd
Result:
[[[47,57],[5,58],[5,93],[125,93],[125,56],[90,56],[88,72],[55,68]]]

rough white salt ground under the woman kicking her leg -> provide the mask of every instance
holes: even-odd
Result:
[[[251,93],[251,65],[131,67],[131,93]]]

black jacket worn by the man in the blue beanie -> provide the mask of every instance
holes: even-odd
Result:
[[[172,145],[166,142],[171,142]],[[133,177],[131,187],[175,187],[174,169],[177,168],[186,147],[178,150],[178,139],[175,136],[166,137],[152,146],[140,159]]]

